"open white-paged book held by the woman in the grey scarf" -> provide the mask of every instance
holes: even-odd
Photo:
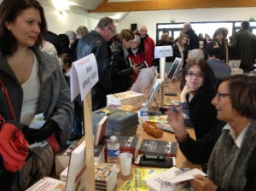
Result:
[[[183,172],[177,167],[172,167],[154,177],[149,177],[143,181],[143,184],[152,191],[160,191],[160,187],[165,184],[165,187],[168,186],[170,188],[168,190],[172,191],[183,188],[183,184],[180,182],[192,180],[194,179],[193,175],[197,174],[207,176],[203,171],[198,169]]]

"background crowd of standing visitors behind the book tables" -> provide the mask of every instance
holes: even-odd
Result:
[[[249,23],[247,21],[241,23],[241,31],[232,36],[230,43],[228,43],[227,35],[228,30],[220,27],[214,32],[212,38],[207,34],[204,38],[201,33],[197,35],[192,25],[186,22],[183,24],[183,29],[177,39],[170,37],[168,31],[164,31],[161,34],[160,41],[155,43],[148,36],[147,26],[142,26],[133,32],[129,29],[117,32],[113,20],[105,17],[91,32],[88,31],[86,26],[79,26],[76,32],[67,31],[56,36],[59,37],[62,44],[58,48],[61,49],[61,54],[73,56],[73,61],[85,55],[90,55],[90,53],[96,55],[99,82],[92,89],[92,109],[95,111],[107,105],[106,96],[108,94],[123,92],[131,88],[141,70],[140,67],[136,66],[137,64],[146,61],[148,67],[157,67],[157,71],[160,72],[160,61],[154,59],[155,46],[172,46],[173,55],[166,58],[167,62],[174,61],[176,57],[182,58],[182,65],[178,69],[178,72],[181,73],[179,78],[182,78],[181,90],[183,90],[183,87],[187,87],[185,86],[186,75],[182,76],[182,72],[188,70],[186,66],[191,59],[204,58],[207,61],[207,66],[209,65],[212,68],[215,78],[214,81],[211,81],[212,87],[214,87],[218,78],[230,75],[231,68],[228,65],[230,60],[241,60],[241,68],[245,72],[253,70],[256,57],[256,38],[249,31]],[[98,44],[96,37],[100,38],[102,43]],[[250,43],[244,43],[247,41]],[[50,42],[55,43],[55,41]],[[250,49],[250,54],[246,52],[250,56],[249,60],[244,56],[245,49]],[[101,52],[101,56],[98,55],[99,52]],[[63,57],[60,53],[57,54],[60,58]],[[63,71],[66,71],[66,78],[67,70],[69,70],[67,66],[67,63],[62,64]],[[75,117],[69,141],[78,140],[83,136],[83,114],[81,114],[83,113],[83,104],[79,97],[75,99],[74,105]]]

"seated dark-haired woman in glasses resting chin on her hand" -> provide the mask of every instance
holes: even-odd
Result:
[[[186,126],[194,126],[196,138],[201,138],[218,123],[216,110],[211,104],[215,76],[212,68],[203,59],[192,59],[183,69],[186,84],[180,94],[180,105]],[[205,125],[205,124],[208,125]]]

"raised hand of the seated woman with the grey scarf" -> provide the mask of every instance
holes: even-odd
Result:
[[[175,111],[176,106],[170,106],[167,110],[167,121],[170,124],[175,132],[175,135],[180,138],[186,135],[186,130],[184,128],[183,122],[183,113],[182,108],[178,108],[177,112]]]

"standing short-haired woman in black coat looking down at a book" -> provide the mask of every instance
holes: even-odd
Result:
[[[133,43],[134,34],[128,29],[123,29],[119,33],[118,39],[111,45],[111,93],[119,93],[128,90],[131,87],[131,74],[138,73],[141,67],[131,67],[128,60],[128,50]]]

